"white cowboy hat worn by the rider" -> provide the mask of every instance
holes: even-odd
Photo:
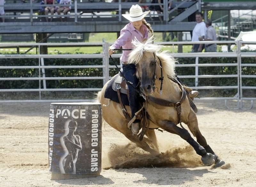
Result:
[[[136,4],[136,5],[132,5],[132,7],[130,8],[130,14],[122,14],[122,16],[124,16],[124,18],[128,19],[129,21],[133,22],[133,21],[140,21],[141,19],[143,19],[150,11],[147,12],[142,12],[141,7]]]

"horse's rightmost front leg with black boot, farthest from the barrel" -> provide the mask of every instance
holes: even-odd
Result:
[[[216,153],[213,152],[212,148],[207,144],[206,139],[201,134],[199,128],[198,128],[198,122],[196,118],[196,114],[193,110],[190,110],[190,113],[188,115],[188,128],[192,132],[192,134],[196,137],[196,141],[205,148],[207,153],[212,153],[214,155],[215,160],[215,168],[218,168],[225,164],[225,161],[220,160],[220,158],[217,156]]]

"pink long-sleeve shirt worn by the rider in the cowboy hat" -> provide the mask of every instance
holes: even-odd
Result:
[[[148,38],[148,28],[144,24],[142,24],[142,28],[144,29],[145,37],[134,28],[132,23],[128,23],[120,32],[119,38],[114,42],[113,45],[110,46],[110,49],[119,49],[121,46],[123,49],[133,49],[132,40],[136,37],[138,41],[143,41]],[[120,57],[122,62],[128,61],[128,55],[131,51],[123,51],[123,55]]]

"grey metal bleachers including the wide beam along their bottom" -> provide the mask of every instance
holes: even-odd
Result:
[[[172,2],[172,10],[168,11],[168,4]],[[37,0],[21,3],[17,0],[6,0],[4,4],[5,22],[0,33],[79,33],[79,32],[119,32],[127,23],[121,14],[128,12],[131,2],[105,2],[103,0],[72,0],[71,11],[67,22],[60,22],[60,16],[55,12],[52,22],[46,22],[44,11],[40,7],[53,5],[40,5]],[[196,6],[195,6],[196,4]],[[146,3],[140,5],[157,6],[158,3]],[[165,7],[161,14],[151,9],[151,14],[146,20],[153,26],[155,31],[189,31],[195,26],[195,22],[188,22],[187,17],[172,21],[183,11],[190,10],[194,13],[198,10],[199,2],[195,0],[174,1],[167,0],[161,4]],[[59,6],[55,4],[54,6]],[[192,7],[192,8],[191,8]],[[196,8],[197,7],[197,8]],[[48,18],[50,18],[50,13]],[[151,18],[149,18],[151,16]],[[160,21],[159,16],[163,18]],[[177,17],[176,17],[177,19]],[[181,23],[182,21],[182,23]]]

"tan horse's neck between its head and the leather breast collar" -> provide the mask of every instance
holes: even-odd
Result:
[[[156,69],[156,76],[157,78],[161,77],[161,70],[159,66]],[[156,83],[156,87],[158,87],[158,92],[157,92],[157,88],[155,88],[155,93],[152,94],[152,96],[156,98],[164,99],[167,101],[179,101],[182,95],[180,86],[177,83],[170,80],[167,74],[165,73],[165,71],[163,71],[163,77],[164,77],[164,80],[163,80],[162,95],[158,93],[160,92],[161,81],[156,80],[155,83]]]

